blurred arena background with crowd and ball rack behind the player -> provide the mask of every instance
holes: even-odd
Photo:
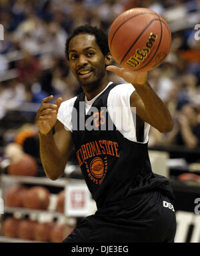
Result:
[[[149,83],[175,126],[169,134],[151,128],[149,155],[153,171],[167,176],[175,192],[175,241],[200,241],[198,0],[0,0],[0,241],[59,242],[79,219],[95,212],[74,152],[63,177],[53,182],[45,177],[35,114],[46,96],[67,100],[81,92],[65,59],[71,31],[90,24],[109,33],[117,15],[134,7],[156,11],[171,29],[171,51],[149,72]],[[67,194],[70,184],[72,193]],[[76,192],[77,184],[82,193]]]

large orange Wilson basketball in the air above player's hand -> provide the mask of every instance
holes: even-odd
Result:
[[[146,8],[133,8],[121,13],[109,29],[109,49],[123,68],[141,72],[157,68],[171,47],[169,25]]]

